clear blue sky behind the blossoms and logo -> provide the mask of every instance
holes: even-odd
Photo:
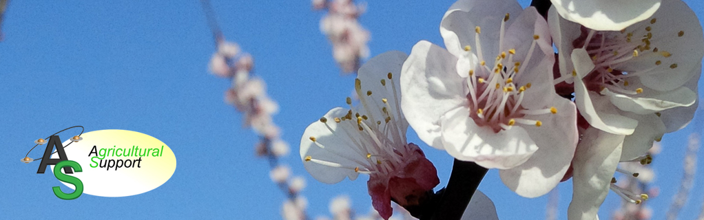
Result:
[[[704,4],[686,1],[700,18]],[[443,45],[439,22],[453,1],[368,1],[360,22],[370,30],[372,56],[389,50],[410,52],[425,39]],[[527,6],[529,1],[520,1]],[[303,130],[327,110],[344,105],[353,77],[341,76],[332,60],[310,1],[213,1],[227,39],[255,59],[281,111],[275,122],[291,145],[283,161],[305,176],[310,216],[329,215],[329,200],[349,195],[353,208],[370,208],[366,178],[335,185],[319,183],[298,158]],[[0,41],[0,218],[57,219],[280,219],[284,195],[269,179],[265,160],[254,157],[257,138],[241,127],[241,115],[222,101],[230,82],[208,74],[213,38],[199,1],[10,1]],[[702,93],[700,91],[700,93]],[[177,169],[163,186],[125,198],[82,195],[60,200],[51,174],[35,174],[37,163],[18,160],[32,141],[74,125],[87,131],[127,129],[168,144]],[[655,219],[663,219],[681,178],[688,127],[663,138],[656,157],[655,186],[649,200]],[[413,130],[409,141],[425,150],[438,169],[440,186],[451,172],[452,157],[422,143]],[[41,151],[41,150],[39,150]],[[704,150],[702,150],[704,151]],[[42,153],[32,152],[34,157]],[[30,157],[32,157],[30,155]],[[704,153],[698,154],[704,162]],[[698,165],[704,170],[704,163]],[[681,219],[693,219],[704,200],[704,178],[696,177]],[[494,200],[501,219],[543,219],[547,197],[520,198],[491,171],[479,187]],[[572,186],[562,183],[560,219],[566,219]],[[610,216],[620,198],[611,193],[600,215]]]

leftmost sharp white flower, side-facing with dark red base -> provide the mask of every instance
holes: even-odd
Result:
[[[361,106],[355,108],[348,97],[350,110],[333,108],[301,138],[303,166],[318,181],[337,183],[369,174],[372,205],[384,219],[391,216],[392,198],[413,205],[408,198],[423,196],[439,183],[422,150],[406,142],[408,122],[398,104],[398,75],[406,57],[391,51],[365,63],[355,82]]]

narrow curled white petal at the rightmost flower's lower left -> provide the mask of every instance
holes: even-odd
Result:
[[[632,134],[638,121],[618,115],[615,106],[606,97],[596,92],[588,91],[582,82],[582,77],[593,69],[593,63],[583,48],[572,51],[572,63],[577,71],[574,80],[574,103],[579,113],[592,127],[611,134]]]

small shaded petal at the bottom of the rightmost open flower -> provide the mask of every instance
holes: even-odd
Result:
[[[653,141],[662,138],[662,134],[665,134],[665,124],[662,124],[660,117],[655,114],[636,115],[624,112],[624,115],[638,120],[638,127],[633,134],[624,138],[621,161],[634,160],[636,157],[646,155],[653,147]]]

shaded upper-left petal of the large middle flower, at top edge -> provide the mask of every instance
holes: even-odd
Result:
[[[519,15],[522,8],[515,0],[460,0],[455,2],[440,22],[440,35],[445,47],[455,56],[464,53],[464,47],[475,51],[474,27],[481,27],[482,58],[492,60],[498,54],[498,39],[501,21],[506,13]],[[479,56],[479,55],[477,55]]]

